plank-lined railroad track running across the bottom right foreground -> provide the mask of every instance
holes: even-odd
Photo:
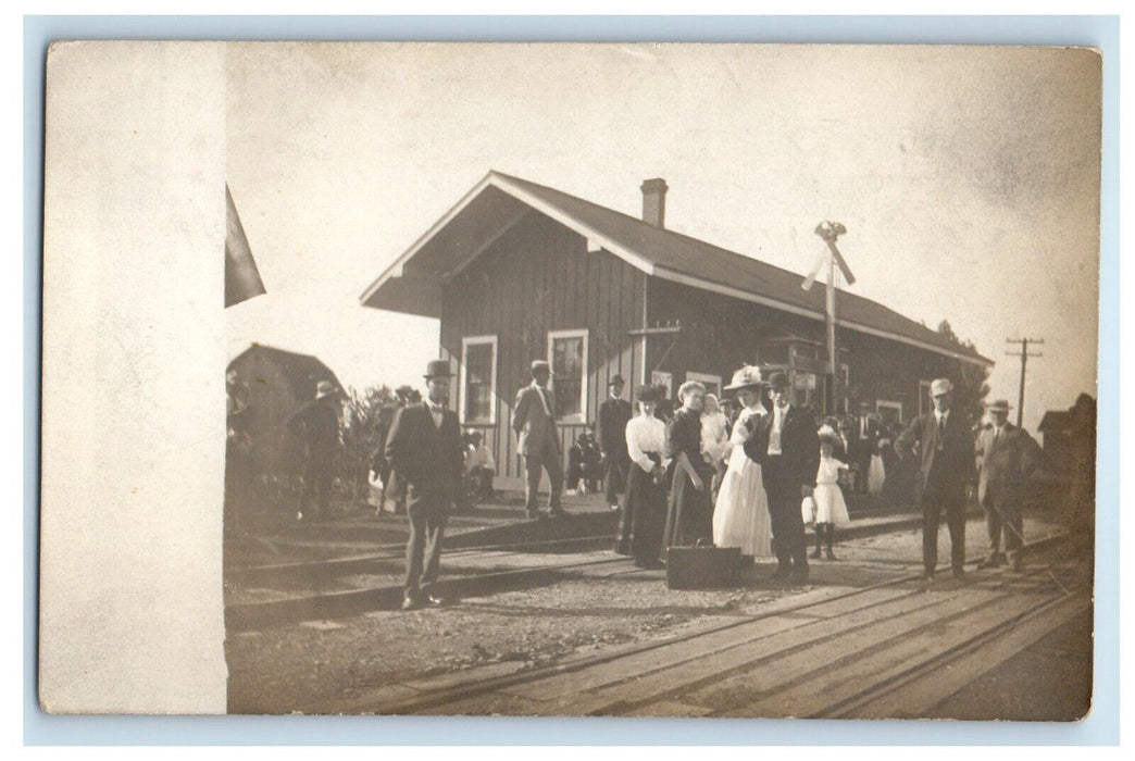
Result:
[[[1063,538],[1026,549],[1035,557]],[[896,574],[834,594],[816,589],[678,637],[488,678],[388,685],[311,712],[925,716],[976,674],[1090,610],[1084,582],[1060,571],[1029,566],[928,586],[918,575]]]

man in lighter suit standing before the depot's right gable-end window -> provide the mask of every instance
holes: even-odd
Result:
[[[520,390],[512,407],[512,429],[516,432],[516,451],[524,455],[524,513],[539,518],[536,495],[540,487],[540,475],[548,471],[552,495],[548,511],[553,516],[564,515],[560,504],[563,491],[564,470],[560,450],[560,433],[556,430],[555,400],[548,388],[552,367],[538,359],[531,365],[532,383]]]

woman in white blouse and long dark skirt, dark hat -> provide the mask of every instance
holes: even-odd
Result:
[[[657,568],[666,520],[666,466],[670,463],[669,459],[663,459],[666,424],[654,417],[657,388],[640,386],[634,396],[639,410],[627,423],[627,452],[631,466],[615,552],[633,555],[634,565],[641,568]]]

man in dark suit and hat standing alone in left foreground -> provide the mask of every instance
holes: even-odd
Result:
[[[386,440],[386,459],[395,476],[393,487],[405,492],[410,516],[403,610],[442,604],[430,587],[442,562],[445,524],[461,494],[464,463],[457,413],[446,409],[452,377],[449,362],[430,362],[426,369],[429,398],[400,409]]]

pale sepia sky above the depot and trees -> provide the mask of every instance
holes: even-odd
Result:
[[[438,323],[360,306],[490,169],[850,290],[994,360],[1025,425],[1095,395],[1100,62],[1056,48],[230,44],[227,179],[268,291],[227,310],[346,385],[420,385]]]

